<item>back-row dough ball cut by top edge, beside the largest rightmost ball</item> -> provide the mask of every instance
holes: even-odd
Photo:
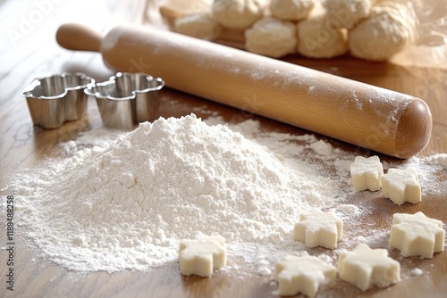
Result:
[[[371,0],[324,0],[327,21],[333,28],[353,28],[371,12]]]

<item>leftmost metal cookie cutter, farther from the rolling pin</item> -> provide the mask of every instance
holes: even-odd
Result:
[[[33,123],[41,128],[59,128],[63,122],[78,120],[86,114],[84,89],[94,79],[83,73],[63,73],[34,79],[21,90],[27,98]]]

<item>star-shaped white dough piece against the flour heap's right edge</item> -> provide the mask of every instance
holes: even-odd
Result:
[[[343,222],[333,212],[315,210],[299,214],[299,222],[293,228],[293,238],[308,247],[322,246],[333,249],[342,239]]]

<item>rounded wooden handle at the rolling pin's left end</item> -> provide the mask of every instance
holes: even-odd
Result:
[[[69,50],[100,52],[103,37],[80,24],[63,24],[56,32],[56,41]]]

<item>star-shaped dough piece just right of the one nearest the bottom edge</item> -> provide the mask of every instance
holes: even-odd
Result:
[[[338,270],[342,280],[362,291],[386,287],[401,281],[401,264],[388,257],[385,249],[358,244],[354,251],[340,252]]]

